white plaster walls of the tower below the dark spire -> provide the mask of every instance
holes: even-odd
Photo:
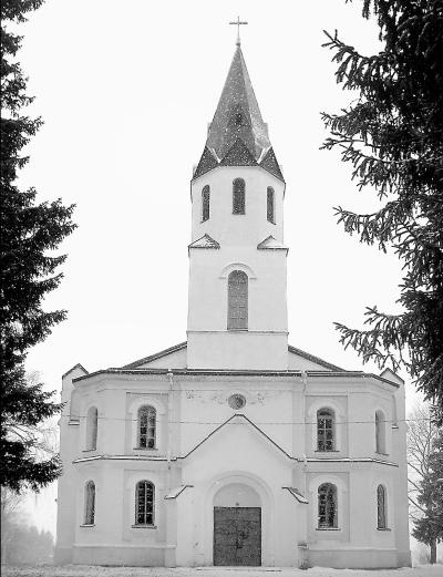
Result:
[[[246,183],[246,214],[233,214],[233,181]],[[202,223],[202,189],[210,186],[210,217]],[[267,220],[267,187],[275,189],[276,224]],[[208,234],[219,249],[189,249],[187,365],[213,369],[288,367],[285,250],[259,250],[272,235],[282,243],[284,184],[259,167],[219,167],[192,184],[193,241]],[[248,276],[248,330],[227,331],[227,281]]]

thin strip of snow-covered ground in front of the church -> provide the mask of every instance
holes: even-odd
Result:
[[[4,577],[443,577],[443,565],[422,565],[402,569],[327,569],[312,567],[308,570],[277,567],[214,568],[194,569],[163,567],[92,567],[89,565],[66,565],[53,567],[2,567]]]

